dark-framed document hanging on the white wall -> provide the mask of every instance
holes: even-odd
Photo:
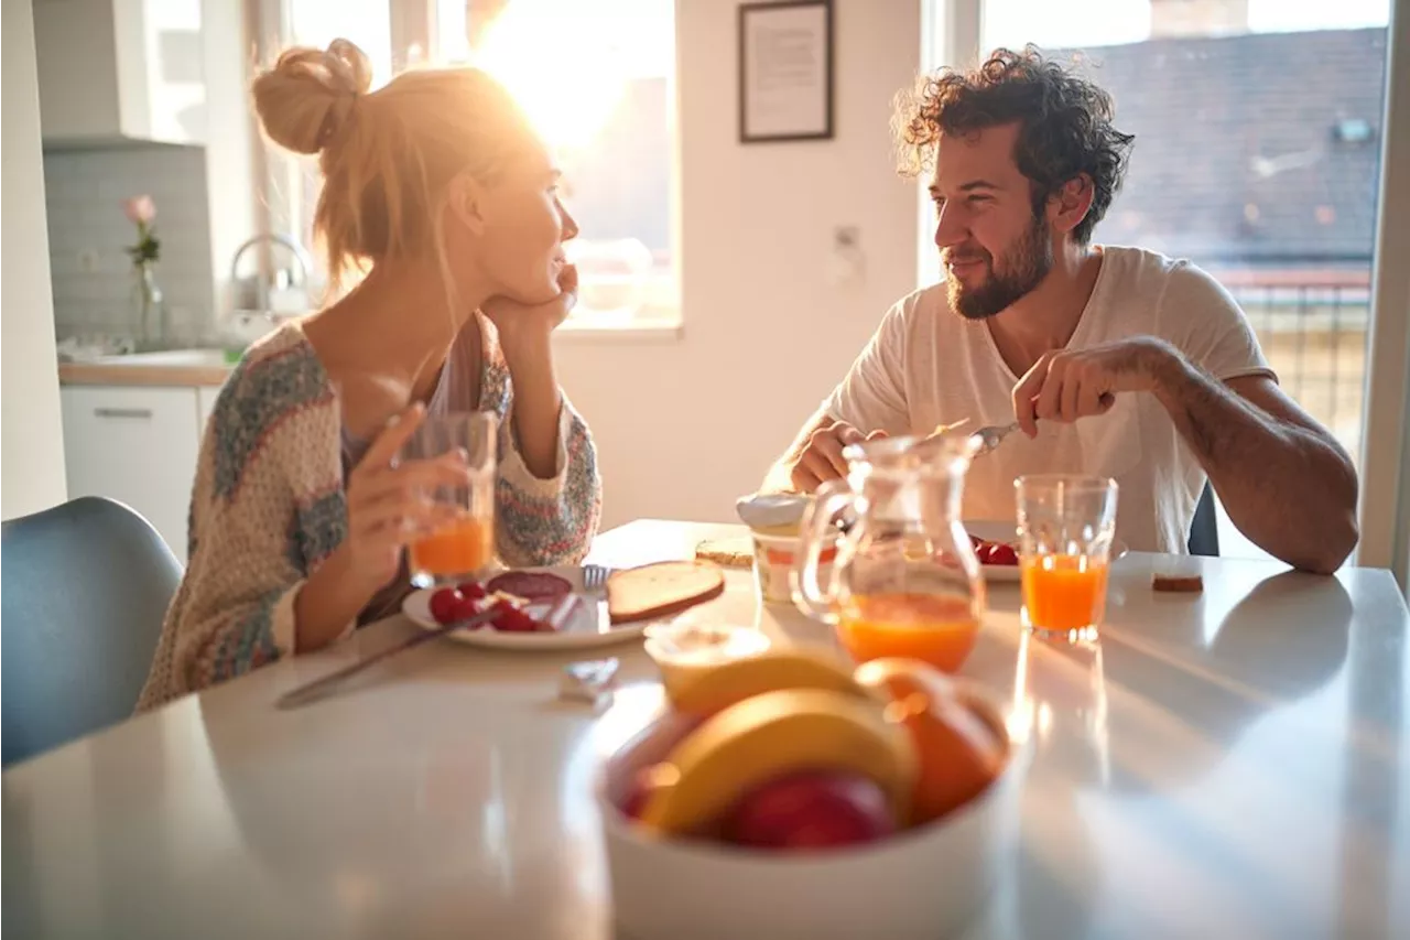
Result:
[[[832,138],[832,0],[739,7],[739,140]]]

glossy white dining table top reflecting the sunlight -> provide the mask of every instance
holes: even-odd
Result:
[[[689,556],[722,526],[637,522],[596,560]],[[1017,590],[966,672],[1034,735],[1017,871],[974,937],[1410,936],[1406,625],[1386,572],[1203,560],[1155,596],[1112,573],[1100,656],[1021,639]],[[828,641],[730,576],[719,617]],[[0,936],[615,936],[589,788],[658,700],[637,645],[601,716],[554,697],[563,655],[451,642],[290,713],[347,645],[0,775]],[[945,872],[936,872],[943,878]],[[878,939],[880,940],[880,939]]]

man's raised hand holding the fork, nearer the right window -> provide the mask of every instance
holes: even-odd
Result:
[[[1014,418],[1032,438],[1038,419],[1105,414],[1118,392],[1155,391],[1156,373],[1175,356],[1175,347],[1153,336],[1043,353],[1014,387]]]

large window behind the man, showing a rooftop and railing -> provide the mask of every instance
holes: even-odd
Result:
[[[1080,56],[1136,137],[1094,241],[1214,274],[1283,388],[1359,459],[1390,0],[950,3],[979,7],[979,48]]]

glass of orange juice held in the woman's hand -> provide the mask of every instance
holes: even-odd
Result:
[[[417,587],[474,577],[494,559],[498,429],[498,418],[488,411],[427,415],[402,447],[403,460],[439,457],[458,449],[470,466],[464,487],[441,487],[434,493],[439,502],[455,505],[454,521],[407,546],[407,569]]]

